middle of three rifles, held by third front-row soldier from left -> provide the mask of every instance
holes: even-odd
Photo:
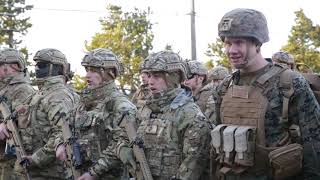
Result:
[[[66,121],[66,114],[60,114],[62,123],[63,140],[67,150],[67,172],[68,179],[77,179],[81,176],[80,168],[82,166],[82,157],[80,152],[80,144],[77,142],[77,137],[74,131],[71,131],[69,123]]]

